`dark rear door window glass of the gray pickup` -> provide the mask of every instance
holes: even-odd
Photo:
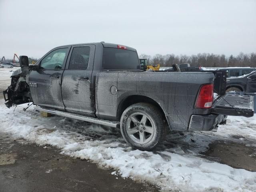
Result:
[[[74,47],[70,62],[69,69],[87,69],[90,56],[90,47]]]

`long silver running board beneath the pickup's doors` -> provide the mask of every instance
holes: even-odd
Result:
[[[46,108],[42,108],[42,107],[38,107],[38,106],[34,107],[34,109],[38,110],[38,111],[54,114],[54,115],[64,116],[64,117],[68,117],[68,118],[72,118],[72,119],[78,119],[78,120],[96,123],[96,124],[105,125],[105,126],[110,126],[110,127],[117,127],[120,124],[120,122],[118,122],[118,121],[108,121],[108,120],[103,120],[103,119],[98,119],[98,118],[93,118],[93,117],[86,117],[86,116],[72,114],[72,113],[68,113],[68,112],[46,109]]]

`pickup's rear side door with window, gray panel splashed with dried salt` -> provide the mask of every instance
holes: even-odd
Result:
[[[95,114],[91,84],[95,45],[72,46],[62,76],[62,99],[65,110]]]

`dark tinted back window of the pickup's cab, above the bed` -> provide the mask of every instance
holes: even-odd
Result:
[[[104,48],[102,69],[140,70],[136,52],[118,48]]]

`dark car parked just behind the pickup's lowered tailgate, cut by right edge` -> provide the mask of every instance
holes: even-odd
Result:
[[[256,71],[244,76],[227,78],[226,92],[256,93]]]

